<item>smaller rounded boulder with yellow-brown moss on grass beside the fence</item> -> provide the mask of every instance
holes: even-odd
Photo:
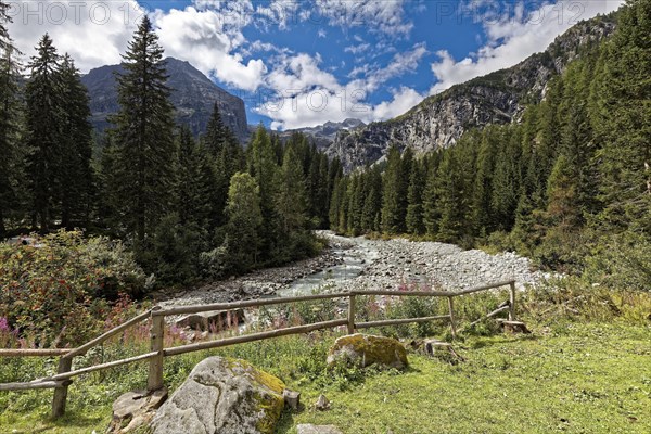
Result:
[[[339,337],[330,348],[328,365],[340,360],[361,366],[381,365],[403,369],[409,365],[403,344],[391,337],[350,334]]]

